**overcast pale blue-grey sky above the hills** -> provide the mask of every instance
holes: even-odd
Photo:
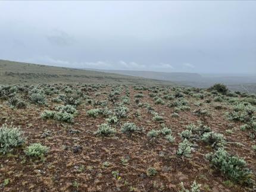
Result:
[[[1,1],[0,59],[256,73],[256,1]]]

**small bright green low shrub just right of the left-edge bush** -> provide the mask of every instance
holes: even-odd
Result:
[[[40,143],[33,143],[30,144],[29,147],[27,147],[24,152],[26,153],[27,156],[32,156],[32,157],[41,157],[45,155],[49,150],[49,147],[43,146]]]

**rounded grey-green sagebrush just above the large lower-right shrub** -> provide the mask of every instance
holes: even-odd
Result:
[[[201,140],[205,143],[211,144],[211,147],[213,148],[221,147],[225,143],[223,134],[215,133],[214,131],[204,133]]]

